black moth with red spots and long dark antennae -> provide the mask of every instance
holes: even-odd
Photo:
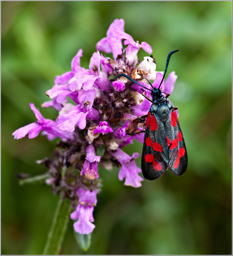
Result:
[[[174,50],[168,54],[163,79],[167,72],[171,54],[177,51],[178,50]],[[119,74],[114,79],[120,76],[124,76],[132,82],[139,84],[141,87],[144,87],[126,74]],[[177,108],[174,108],[172,103],[167,99],[170,94],[163,92],[166,94],[166,97],[163,97],[160,89],[163,79],[158,88],[153,87],[147,80],[151,85],[152,90],[147,89],[146,87],[144,88],[151,91],[152,99],[147,97],[145,92],[142,94],[146,99],[152,102],[148,114],[139,117],[139,120],[147,118],[145,131],[141,131],[145,132],[141,170],[144,178],[148,180],[159,178],[168,167],[176,174],[176,176],[180,176],[186,171],[188,165],[185,140],[175,113]],[[133,135],[136,133],[130,134]]]

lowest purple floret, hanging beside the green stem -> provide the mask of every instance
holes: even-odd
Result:
[[[96,206],[97,191],[90,190],[85,191],[84,188],[79,188],[77,190],[77,195],[79,197],[79,204],[74,212],[70,214],[70,218],[78,221],[74,223],[74,230],[79,234],[89,234],[95,228],[95,225],[91,222],[94,221],[93,210]]]

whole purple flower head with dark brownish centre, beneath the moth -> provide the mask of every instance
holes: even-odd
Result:
[[[126,49],[123,49],[122,41]],[[137,52],[142,48],[149,56],[140,62]],[[150,91],[132,83],[125,77],[112,81],[110,77],[127,74],[150,89],[145,78],[154,80],[158,88],[163,72],[156,71],[152,48],[146,42],[134,41],[124,32],[124,20],[116,19],[110,25],[106,37],[96,44],[97,52],[90,58],[89,69],[81,67],[82,49],[71,61],[71,71],[56,76],[54,86],[46,92],[50,101],[43,108],[53,107],[59,114],[55,121],[45,119],[30,103],[37,121],[28,124],[12,135],[15,139],[26,136],[32,139],[47,135],[48,140],[61,139],[51,159],[45,158],[50,178],[47,184],[53,186],[53,192],[63,192],[71,199],[76,210],[71,219],[78,219],[74,229],[80,234],[89,234],[94,229],[93,209],[97,203],[99,191],[98,163],[107,170],[121,166],[119,180],[124,185],[138,188],[143,178],[135,159],[139,153],[131,156],[121,150],[132,143],[133,139],[143,143],[144,133],[128,135],[144,129],[145,123],[139,116],[147,114],[151,102],[141,94],[151,98]],[[113,59],[102,53],[112,53]],[[177,76],[171,72],[162,83],[164,93],[172,93]],[[164,94],[165,95],[165,94]],[[73,103],[68,101],[70,98]],[[92,191],[92,192],[91,192]]]

